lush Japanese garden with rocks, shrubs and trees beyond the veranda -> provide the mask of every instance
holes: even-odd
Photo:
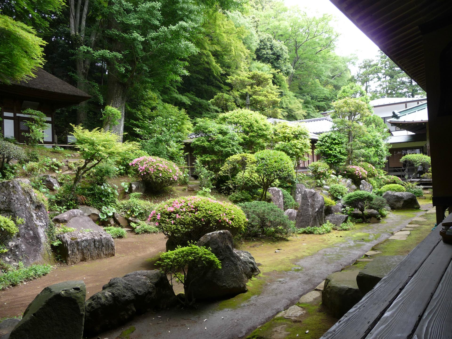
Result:
[[[437,222],[427,94],[336,20],[0,4],[0,338],[319,339],[398,267]]]

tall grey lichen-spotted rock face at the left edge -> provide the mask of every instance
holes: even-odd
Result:
[[[46,207],[36,198],[29,183],[26,179],[0,181],[0,214],[13,220],[24,219],[24,224],[17,225],[19,233],[5,241],[9,251],[0,254],[9,264],[22,261],[30,265],[50,261],[46,250],[49,217]]]

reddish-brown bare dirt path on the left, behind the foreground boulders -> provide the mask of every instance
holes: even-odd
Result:
[[[116,254],[112,258],[78,263],[73,266],[60,265],[47,276],[0,291],[0,318],[23,313],[34,297],[48,285],[68,280],[83,280],[87,298],[102,290],[102,286],[113,277],[138,271],[154,269],[147,261],[165,250],[165,235],[128,233],[126,239],[117,239]]]

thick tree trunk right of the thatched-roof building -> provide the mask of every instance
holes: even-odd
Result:
[[[106,125],[105,131],[111,130],[113,133],[118,134],[120,141],[122,142],[122,134],[124,132],[124,110],[126,106],[126,94],[127,85],[123,84],[113,74],[108,76],[108,94],[107,105],[114,108],[118,108],[121,112],[121,119],[118,120],[118,124],[114,126]]]

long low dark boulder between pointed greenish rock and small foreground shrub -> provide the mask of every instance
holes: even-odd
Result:
[[[85,336],[113,329],[147,310],[172,306],[176,300],[165,274],[158,270],[113,278],[85,304]]]

